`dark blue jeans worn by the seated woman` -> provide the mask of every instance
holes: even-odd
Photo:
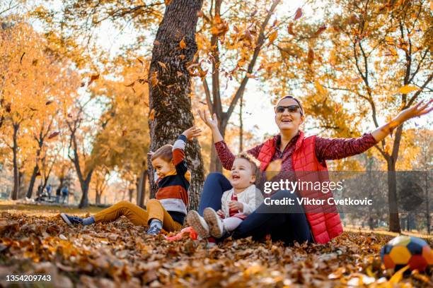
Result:
[[[221,196],[224,191],[230,190],[231,184],[223,174],[210,173],[204,181],[202,198],[200,199],[199,213],[203,215],[204,208],[221,209]],[[294,199],[291,207],[293,212],[278,212],[262,203],[253,213],[248,215],[239,227],[233,232],[234,239],[253,236],[253,239],[263,239],[271,234],[273,241],[283,241],[291,245],[294,241],[303,243],[313,242],[311,230],[301,205],[297,204],[296,194],[289,191],[278,191],[271,199]]]

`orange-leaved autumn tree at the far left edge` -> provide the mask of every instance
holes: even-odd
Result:
[[[1,46],[4,56],[1,86],[1,116],[11,125],[11,150],[13,151],[14,187],[12,198],[18,198],[19,163],[18,146],[20,130],[42,122],[42,138],[50,133],[50,114],[56,103],[64,104],[63,88],[67,71],[50,53],[47,42],[21,18],[11,18],[11,24],[2,28]],[[50,105],[52,104],[52,105]],[[24,135],[26,137],[26,135]],[[28,145],[28,140],[25,145]],[[43,142],[43,140],[42,140]],[[36,152],[37,153],[37,152]]]

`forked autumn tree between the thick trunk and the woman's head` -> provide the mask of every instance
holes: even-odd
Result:
[[[272,57],[267,50],[275,49],[271,44],[288,19],[284,16],[272,20],[279,2],[236,1],[223,5],[223,1],[217,0],[200,12],[202,25],[197,32],[200,61],[190,66],[190,70],[202,79],[207,106],[217,114],[223,137],[238,101],[246,92],[248,80],[265,76],[260,70],[267,68],[265,59]],[[229,102],[224,104],[226,99]],[[213,147],[210,171],[221,169]]]

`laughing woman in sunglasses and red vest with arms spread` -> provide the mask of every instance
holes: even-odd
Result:
[[[327,175],[325,160],[350,157],[368,150],[403,122],[430,112],[433,109],[428,108],[431,102],[432,100],[426,104],[420,102],[403,110],[388,124],[371,133],[364,134],[362,137],[328,139],[318,136],[304,136],[304,132],[299,130],[299,126],[304,122],[304,109],[301,102],[295,97],[286,96],[279,100],[275,107],[275,123],[279,128],[279,134],[248,150],[248,152],[260,161],[262,171],[265,171],[271,162],[278,160],[281,161],[280,171],[289,181],[299,179],[299,174],[303,175],[302,172],[306,172],[304,174],[308,174],[311,179],[311,173],[309,173],[311,171],[317,172],[315,176],[319,181],[326,181],[326,177],[323,177],[324,174]],[[205,111],[200,111],[199,114],[204,123],[212,129],[214,145],[223,167],[231,169],[235,157],[218,130],[217,116],[214,114],[210,119]],[[221,195],[230,188],[229,180],[222,174],[209,174],[204,181],[199,206],[200,215],[207,207],[219,210],[221,208]],[[296,193],[303,197],[311,195],[311,191],[296,191]],[[297,204],[296,197],[298,195],[296,193],[278,191],[272,195],[271,199],[273,200],[293,199],[292,210],[276,212],[262,204],[239,225],[233,233],[233,238],[253,236],[253,239],[261,239],[263,236],[271,234],[273,240],[281,240],[285,244],[291,244],[293,241],[327,243],[342,233],[342,223],[335,206],[314,206],[305,212],[305,207]],[[319,197],[328,198],[330,193],[321,193]]]

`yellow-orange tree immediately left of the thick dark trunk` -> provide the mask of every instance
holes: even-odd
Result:
[[[137,205],[143,206],[149,152],[149,126],[144,115],[149,114],[149,88],[135,82],[148,69],[148,64],[140,61],[115,59],[117,78],[100,79],[92,89],[93,97],[105,102],[100,117],[103,129],[96,136],[93,153],[100,155],[100,165],[136,184]]]

